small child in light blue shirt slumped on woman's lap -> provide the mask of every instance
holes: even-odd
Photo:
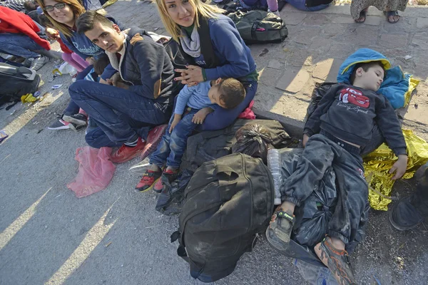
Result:
[[[185,86],[178,93],[175,110],[166,133],[156,151],[151,155],[151,167],[143,175],[143,180],[137,185],[137,190],[145,192],[154,185],[155,192],[162,192],[161,175],[169,182],[175,180],[187,139],[195,130],[196,125],[202,124],[205,117],[215,108],[219,106],[227,109],[235,108],[244,98],[243,84],[233,78],[218,78],[215,81],[199,83],[197,86]],[[161,168],[165,162],[166,168],[162,172]]]

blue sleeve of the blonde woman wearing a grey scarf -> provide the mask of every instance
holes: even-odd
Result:
[[[220,25],[221,24],[221,25]],[[239,78],[250,73],[247,51],[238,30],[232,20],[218,20],[210,26],[213,46],[225,58],[226,64],[216,68],[205,69],[207,80],[217,78]]]

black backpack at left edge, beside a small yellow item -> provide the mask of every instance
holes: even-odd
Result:
[[[0,106],[19,102],[22,95],[36,92],[39,83],[40,76],[36,71],[0,63]]]

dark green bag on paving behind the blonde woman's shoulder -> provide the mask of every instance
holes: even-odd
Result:
[[[284,21],[267,11],[236,11],[228,17],[235,23],[245,43],[280,43],[288,35]]]

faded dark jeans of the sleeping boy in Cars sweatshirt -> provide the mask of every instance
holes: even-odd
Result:
[[[337,205],[327,235],[347,244],[355,239],[357,229],[365,226],[369,209],[368,186],[358,147],[323,131],[321,135],[312,135],[295,172],[280,187],[281,199],[299,207],[318,187],[329,167],[333,167],[337,177]]]

